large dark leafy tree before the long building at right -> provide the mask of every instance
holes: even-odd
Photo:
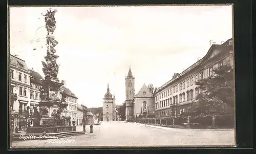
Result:
[[[210,76],[196,82],[200,94],[196,101],[182,115],[227,115],[234,114],[234,75],[233,68],[224,65],[213,70]]]

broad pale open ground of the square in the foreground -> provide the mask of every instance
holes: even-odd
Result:
[[[78,126],[77,130],[82,130]],[[22,147],[98,147],[98,146],[234,146],[234,130],[159,129],[135,123],[102,122],[94,133],[48,140],[13,141],[12,148]],[[90,127],[86,126],[90,133]],[[62,140],[62,141],[60,141]],[[72,143],[70,142],[72,141]],[[62,142],[62,143],[60,143]],[[64,143],[66,142],[66,143]]]

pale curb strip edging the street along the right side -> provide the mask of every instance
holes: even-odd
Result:
[[[154,126],[154,125],[145,125],[145,124],[141,124],[141,123],[134,123],[137,125],[141,125],[141,126],[146,126],[146,127],[152,127],[152,128],[157,128],[157,129],[174,129],[174,130],[234,130],[234,128],[217,128],[217,129],[207,129],[207,128],[171,128],[171,127],[163,127],[163,126]]]

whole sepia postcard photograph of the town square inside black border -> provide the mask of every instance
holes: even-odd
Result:
[[[236,147],[233,6],[8,6],[9,147]]]

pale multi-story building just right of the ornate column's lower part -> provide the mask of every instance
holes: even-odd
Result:
[[[66,81],[65,81],[66,82]],[[65,87],[66,83],[64,82],[64,85],[60,87],[60,95],[62,94],[63,91],[66,92],[67,98],[66,102],[68,103],[67,110],[66,112],[63,112],[62,115],[65,117],[71,117],[71,124],[73,121],[75,124],[78,123],[77,119],[77,100],[78,98],[73,94],[67,87]]]

